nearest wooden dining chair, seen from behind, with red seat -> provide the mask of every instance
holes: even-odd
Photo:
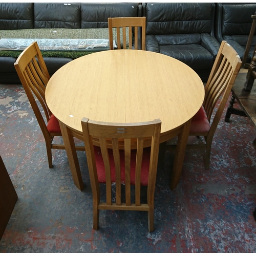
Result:
[[[154,230],[154,194],[161,121],[108,123],[81,120],[93,193],[93,229],[99,226],[99,210],[140,210],[148,212],[148,229]],[[100,147],[92,138],[99,138]],[[143,138],[152,138],[151,147],[143,149]],[[120,150],[119,140],[122,140]],[[137,150],[131,150],[135,140]],[[112,141],[112,143],[111,143]],[[112,149],[107,148],[111,144]],[[106,184],[106,200],[100,202],[99,183]],[[112,184],[116,185],[112,202]],[[125,184],[125,203],[121,202],[121,184]],[[135,200],[131,198],[135,185]],[[141,203],[141,185],[147,186],[147,203]]]

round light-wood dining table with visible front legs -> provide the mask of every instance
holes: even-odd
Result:
[[[183,62],[141,50],[97,52],[61,67],[49,80],[45,95],[59,120],[74,183],[80,190],[83,182],[73,136],[82,139],[83,117],[120,123],[160,118],[160,143],[178,135],[170,187],[177,186],[190,121],[204,100],[202,80]],[[94,142],[97,145],[97,139]]]

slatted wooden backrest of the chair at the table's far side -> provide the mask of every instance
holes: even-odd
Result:
[[[120,28],[122,28],[123,35],[123,49],[126,49],[126,27],[129,28],[129,49],[132,49],[133,45],[133,33],[134,27],[134,49],[138,50],[141,45],[141,50],[145,50],[146,42],[146,17],[120,17],[120,18],[108,18],[109,23],[109,39],[110,50],[114,50],[113,46],[113,28],[116,28],[117,33],[117,49],[121,49],[120,41]],[[142,28],[141,35],[139,27]]]

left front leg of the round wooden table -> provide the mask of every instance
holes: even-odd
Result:
[[[67,156],[69,159],[69,165],[70,165],[74,183],[77,186],[77,188],[80,191],[82,191],[84,186],[83,186],[80,166],[79,166],[79,162],[76,154],[74,138],[71,135],[69,128],[65,124],[59,121],[59,126],[60,126],[64,144],[65,144]]]

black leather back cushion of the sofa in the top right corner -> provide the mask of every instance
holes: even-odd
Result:
[[[255,11],[256,4],[223,4],[222,35],[249,35]]]

